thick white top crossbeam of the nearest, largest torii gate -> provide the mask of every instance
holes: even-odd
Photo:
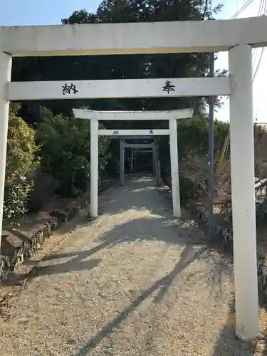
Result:
[[[0,52],[11,56],[219,52],[237,44],[266,46],[267,18],[0,27]]]

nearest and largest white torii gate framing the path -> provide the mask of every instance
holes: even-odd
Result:
[[[244,339],[258,336],[251,48],[263,46],[267,46],[266,16],[216,21],[0,27],[0,231],[9,100],[230,95],[236,333]],[[10,81],[11,60],[16,56],[219,51],[229,51],[228,78],[166,78],[164,83],[170,81],[173,90],[164,95],[162,79]]]

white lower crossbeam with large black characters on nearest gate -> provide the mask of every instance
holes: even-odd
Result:
[[[8,100],[231,95],[229,77],[11,82]]]

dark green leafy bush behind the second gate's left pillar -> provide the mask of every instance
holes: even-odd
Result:
[[[90,179],[90,122],[62,115],[41,112],[42,121],[36,130],[41,145],[41,167],[60,185],[58,194],[78,196],[85,192]],[[99,140],[99,167],[108,162],[109,140]]]

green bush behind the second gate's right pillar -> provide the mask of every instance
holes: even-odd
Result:
[[[177,127],[180,194],[181,200],[185,202],[207,192],[209,121],[202,115],[179,120]],[[219,164],[228,131],[228,123],[214,121],[215,167]],[[169,144],[164,139],[159,141],[159,145],[162,167],[170,175]]]

